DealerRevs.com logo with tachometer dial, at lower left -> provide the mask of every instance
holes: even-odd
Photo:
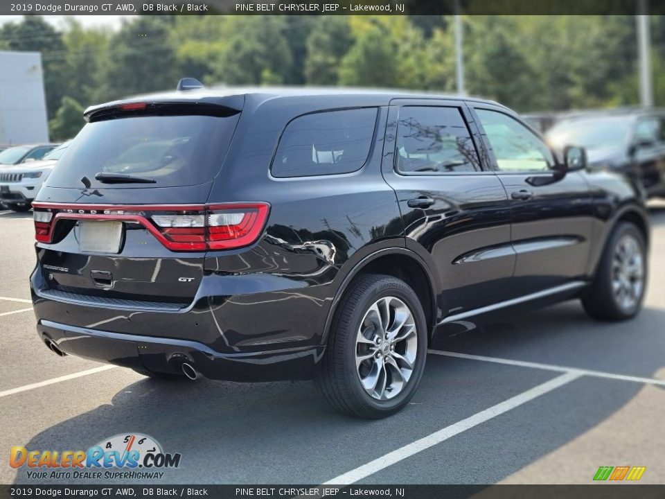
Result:
[[[10,450],[12,468],[26,467],[28,478],[162,478],[167,468],[180,465],[179,453],[162,450],[148,435],[130,433],[100,441],[88,450],[29,450],[14,446]]]

